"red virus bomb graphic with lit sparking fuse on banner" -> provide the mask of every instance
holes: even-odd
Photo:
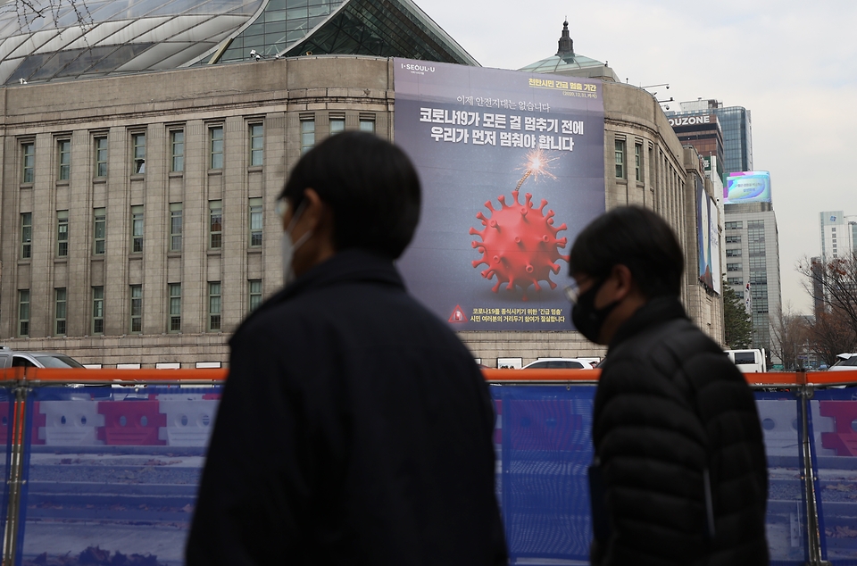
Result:
[[[482,254],[481,259],[472,262],[473,267],[487,266],[481,275],[485,279],[496,279],[491,289],[495,293],[503,285],[508,291],[520,287],[524,301],[528,300],[529,287],[536,292],[542,289],[539,281],[555,288],[551,273],[560,272],[557,261],[569,261],[569,256],[561,253],[568,244],[568,238],[557,236],[567,229],[565,223],[553,226],[554,213],[553,210],[545,212],[545,199],[541,199],[541,204],[536,207],[532,203],[532,194],[527,193],[523,203],[518,198],[520,187],[528,178],[532,177],[534,183],[540,176],[556,179],[549,171],[550,162],[556,158],[548,157],[540,149],[530,152],[527,158],[522,167],[524,175],[512,190],[513,204],[506,204],[504,195],[497,197],[500,209],[495,209],[492,202],[487,201],[485,205],[490,216],[483,212],[476,215],[484,229],[470,228],[470,235],[481,238],[481,241],[471,243]]]

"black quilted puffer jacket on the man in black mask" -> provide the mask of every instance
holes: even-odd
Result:
[[[761,426],[726,354],[661,297],[620,327],[601,368],[593,442],[610,535],[592,563],[767,564]]]

